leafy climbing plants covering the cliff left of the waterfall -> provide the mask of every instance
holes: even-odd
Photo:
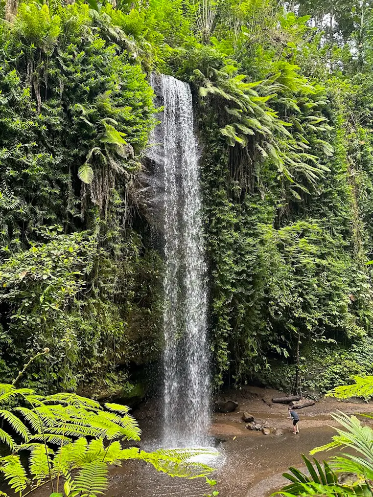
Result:
[[[146,230],[128,225],[152,90],[106,14],[53,9],[21,3],[14,23],[0,26],[1,375],[49,346],[53,361],[35,363],[30,382],[86,383],[94,393],[142,353],[143,331],[128,320],[146,317],[157,349],[159,261],[145,252]],[[143,284],[143,255],[154,261],[147,300],[132,291]]]

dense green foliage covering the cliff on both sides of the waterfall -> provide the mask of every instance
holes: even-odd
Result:
[[[334,3],[26,2],[0,24],[3,381],[48,346],[32,385],[98,395],[158,357],[151,71],[190,83],[204,146],[215,384],[371,372],[372,5]]]

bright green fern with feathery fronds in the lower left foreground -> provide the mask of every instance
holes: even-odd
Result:
[[[59,496],[101,495],[107,489],[107,466],[120,466],[129,459],[145,461],[176,477],[207,477],[212,471],[191,461],[195,455],[211,454],[206,449],[123,449],[122,440],[138,441],[141,435],[126,406],[107,403],[101,407],[67,393],[43,397],[30,389],[0,384],[0,405],[10,401],[21,405],[0,410],[0,418],[11,428],[0,429],[0,440],[10,451],[0,457],[0,473],[20,497],[47,482]],[[29,453],[27,467],[20,457],[25,451]]]

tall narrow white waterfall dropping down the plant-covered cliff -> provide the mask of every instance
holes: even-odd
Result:
[[[197,141],[190,87],[170,76],[151,84],[164,106],[150,157],[161,201],[165,258],[163,446],[208,444],[206,265]]]

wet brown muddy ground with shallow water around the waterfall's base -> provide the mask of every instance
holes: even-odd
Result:
[[[299,435],[291,433],[287,406],[273,404],[279,395],[275,390],[246,387],[241,391],[227,392],[225,399],[238,402],[234,413],[215,414],[211,435],[218,443],[220,457],[213,476],[218,482],[219,497],[267,497],[286,481],[282,473],[289,466],[302,468],[301,454],[330,441],[335,422],[330,414],[373,412],[367,403],[339,402],[322,399],[314,406],[299,411]],[[246,428],[242,414],[246,411],[262,425],[271,427],[271,434]],[[159,438],[160,413],[154,402],[134,412],[143,430],[142,447],[152,449]],[[275,433],[282,432],[282,435]],[[329,457],[320,454],[319,459]],[[138,462],[113,469],[107,493],[115,497],[200,497],[208,491],[198,480],[181,480],[157,473],[153,468]]]

